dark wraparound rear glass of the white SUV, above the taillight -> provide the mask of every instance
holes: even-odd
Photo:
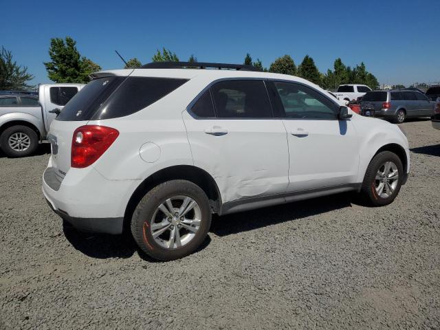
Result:
[[[163,98],[186,79],[104,77],[92,80],[70,100],[57,120],[102,120],[131,115]]]

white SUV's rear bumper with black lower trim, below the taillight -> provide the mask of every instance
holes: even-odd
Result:
[[[56,214],[80,230],[122,233],[125,209],[136,180],[108,180],[89,166],[69,169],[57,184],[52,170],[49,162],[42,189]]]

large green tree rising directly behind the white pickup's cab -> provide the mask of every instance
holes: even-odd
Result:
[[[47,76],[55,83],[88,83],[89,74],[101,67],[76,49],[76,41],[67,36],[50,39],[49,56],[52,61],[45,62]]]

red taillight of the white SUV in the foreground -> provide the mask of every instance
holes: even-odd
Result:
[[[111,127],[98,125],[80,126],[72,137],[72,158],[70,166],[85,168],[111,146],[119,132]]]

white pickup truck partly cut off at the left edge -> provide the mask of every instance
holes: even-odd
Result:
[[[23,157],[45,142],[57,113],[83,88],[82,84],[45,84],[39,97],[27,94],[0,95],[0,148],[10,157]]]

